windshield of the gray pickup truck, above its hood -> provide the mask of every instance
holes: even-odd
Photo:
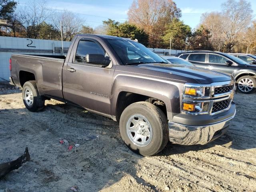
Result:
[[[123,64],[168,63],[144,45],[127,40],[108,40]]]

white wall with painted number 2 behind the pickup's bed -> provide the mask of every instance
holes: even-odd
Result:
[[[64,41],[64,54],[71,42]],[[61,41],[0,36],[0,81],[9,81],[11,54],[62,55]]]

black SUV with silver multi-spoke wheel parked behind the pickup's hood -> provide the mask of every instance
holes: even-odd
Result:
[[[195,66],[233,75],[237,89],[241,93],[250,94],[256,90],[256,66],[236,56],[204,50],[183,52],[176,56],[188,60]]]

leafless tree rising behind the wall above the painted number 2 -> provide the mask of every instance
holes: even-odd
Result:
[[[46,1],[30,0],[19,9],[20,22],[26,28],[28,38],[38,38],[40,26],[48,18],[50,11],[46,7]]]

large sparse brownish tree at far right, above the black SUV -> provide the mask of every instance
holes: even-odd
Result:
[[[215,50],[222,44],[223,51],[231,52],[234,46],[242,44],[252,22],[251,4],[246,0],[227,0],[221,12],[204,13],[201,24],[211,31],[211,43]]]

